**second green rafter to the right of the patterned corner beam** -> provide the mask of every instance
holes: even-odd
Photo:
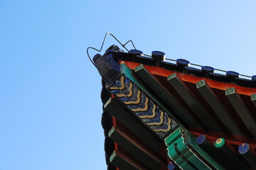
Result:
[[[208,113],[208,111],[206,111],[206,109],[203,108],[203,106],[197,101],[196,97],[193,96],[186,84],[183,84],[176,73],[169,75],[167,81],[188,104],[193,113],[195,113],[198,119],[201,120],[207,130],[213,130],[217,132],[221,131],[220,128],[218,128],[218,125],[209,118],[210,113]]]

